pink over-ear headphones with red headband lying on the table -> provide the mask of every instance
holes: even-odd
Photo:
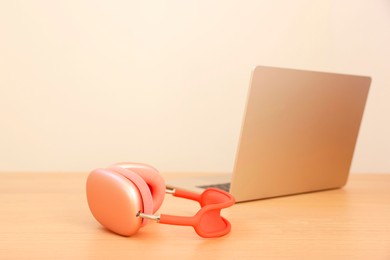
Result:
[[[192,217],[153,215],[165,193],[197,201],[201,209]],[[192,226],[201,237],[220,237],[231,229],[220,211],[235,203],[231,194],[219,189],[209,188],[201,194],[166,189],[155,168],[139,163],[118,163],[93,170],[87,179],[87,199],[96,220],[122,236],[135,234],[152,219],[162,224]]]

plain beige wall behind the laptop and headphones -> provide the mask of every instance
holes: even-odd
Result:
[[[353,172],[390,172],[390,2],[1,1],[0,171],[232,168],[250,70],[373,77]]]

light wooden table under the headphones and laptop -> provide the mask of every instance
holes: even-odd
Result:
[[[129,238],[112,234],[89,212],[86,177],[0,174],[0,259],[390,259],[390,174],[352,174],[343,189],[236,204],[222,212],[232,232],[218,239],[157,223]],[[197,209],[167,195],[160,212]]]

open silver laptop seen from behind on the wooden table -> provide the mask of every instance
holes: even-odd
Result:
[[[370,83],[366,76],[256,67],[233,172],[168,186],[222,188],[237,202],[344,186]]]

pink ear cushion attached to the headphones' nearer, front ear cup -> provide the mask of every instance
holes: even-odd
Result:
[[[142,197],[143,201],[143,213],[146,214],[153,214],[154,211],[154,206],[153,206],[153,198],[152,194],[150,192],[148,184],[145,182],[145,180],[138,175],[137,173],[128,170],[128,169],[123,169],[121,167],[117,166],[111,166],[108,168],[108,170],[111,170],[113,172],[116,172],[122,176],[124,176],[126,179],[129,179],[132,183],[134,183]],[[143,219],[142,221],[142,226],[144,226],[147,223],[147,219]]]

